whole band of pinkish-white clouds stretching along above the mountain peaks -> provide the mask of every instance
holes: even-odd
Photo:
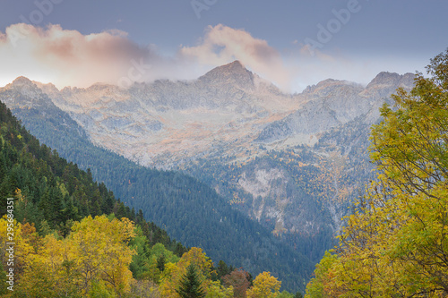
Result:
[[[331,48],[314,49],[313,54],[298,41],[280,54],[266,40],[224,25],[208,27],[197,45],[179,47],[175,55],[166,56],[155,45],[134,43],[120,30],[84,35],[59,25],[39,28],[19,23],[0,31],[0,86],[19,76],[53,82],[58,88],[191,80],[239,60],[281,89],[301,91],[328,78],[367,83],[378,72],[413,72],[425,65],[406,56],[347,55]],[[409,70],[409,65],[416,66]]]

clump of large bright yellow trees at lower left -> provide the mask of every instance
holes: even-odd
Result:
[[[5,225],[2,218],[0,233]],[[134,236],[129,219],[85,217],[65,239],[55,234],[41,238],[33,226],[16,225],[16,258],[23,268],[15,290],[19,296],[85,297],[93,284],[104,285],[110,294],[129,292],[134,254],[127,245]],[[28,230],[24,236],[23,227]]]

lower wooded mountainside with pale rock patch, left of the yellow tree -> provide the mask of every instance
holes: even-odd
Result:
[[[245,160],[201,158],[186,173],[318,262],[337,243],[340,217],[373,178],[369,132],[370,126],[356,118],[324,132],[313,147],[272,149]]]

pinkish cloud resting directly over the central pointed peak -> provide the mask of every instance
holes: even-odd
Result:
[[[222,24],[209,26],[199,45],[182,47],[179,55],[211,66],[239,60],[281,88],[289,88],[291,73],[284,66],[280,53],[270,47],[266,40],[254,38],[245,30],[232,29]]]

